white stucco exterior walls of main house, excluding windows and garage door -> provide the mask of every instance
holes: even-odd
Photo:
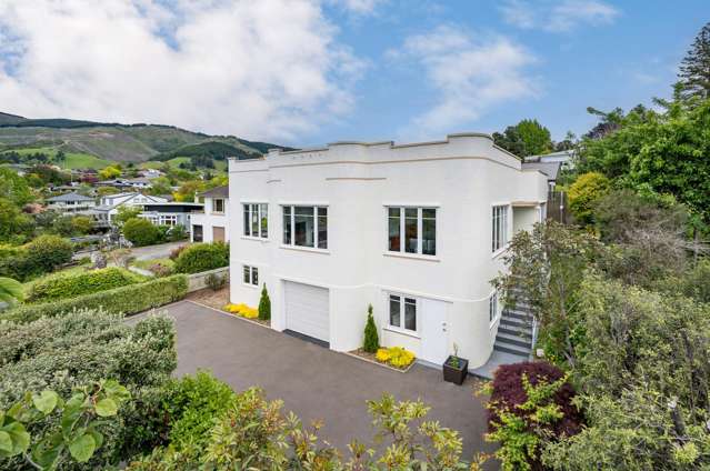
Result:
[[[420,355],[422,332],[418,338],[387,329],[388,293],[440,301],[448,349],[456,342],[470,368],[486,362],[497,329],[489,325],[489,281],[502,262],[491,253],[491,208],[547,199],[546,177],[521,171],[517,158],[483,134],[272,151],[261,160],[230,160],[229,184],[232,302],[258,304],[259,289],[241,280],[242,265],[254,265],[269,288],[274,329],[286,324],[282,281],[300,281],[330,290],[332,349],[361,345],[371,303],[381,343]],[[269,204],[268,240],[241,236],[243,202]],[[282,245],[282,204],[327,206],[328,250]],[[387,252],[387,206],[437,208],[436,257]],[[512,219],[511,211],[510,234]]]

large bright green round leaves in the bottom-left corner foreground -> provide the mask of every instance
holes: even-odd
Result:
[[[66,401],[49,389],[41,393],[28,391],[8,411],[0,411],[0,458],[23,454],[34,468],[53,470],[69,459],[68,452],[77,462],[86,463],[103,444],[98,430],[106,422],[103,419],[116,417],[130,397],[113,380],[78,388]],[[32,439],[27,428],[52,413],[61,414],[61,429]]]

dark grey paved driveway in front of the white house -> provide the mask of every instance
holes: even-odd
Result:
[[[421,398],[431,405],[429,419],[461,433],[464,459],[494,449],[483,441],[486,410],[473,395],[476,379],[458,387],[443,382],[441,371],[419,364],[407,373],[391,371],[191,301],[163,310],[176,320],[177,375],[202,368],[237,391],[259,385],[304,423],[322,419],[319,435],[343,453],[353,438],[371,443],[366,400],[383,392],[400,400]]]

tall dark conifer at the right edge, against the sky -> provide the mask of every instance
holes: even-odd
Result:
[[[678,77],[678,88],[682,98],[710,98],[710,23],[696,37],[680,63]]]

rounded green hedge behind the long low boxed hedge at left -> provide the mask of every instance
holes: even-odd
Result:
[[[107,291],[138,283],[140,277],[120,268],[104,268],[78,274],[51,274],[32,283],[27,302],[53,301]]]

